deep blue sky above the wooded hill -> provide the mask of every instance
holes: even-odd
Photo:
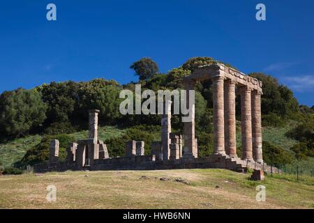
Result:
[[[46,20],[47,3],[57,21]],[[267,20],[255,20],[264,3]],[[51,81],[137,80],[143,56],[161,72],[211,56],[266,72],[314,104],[314,1],[1,0],[0,92]]]

